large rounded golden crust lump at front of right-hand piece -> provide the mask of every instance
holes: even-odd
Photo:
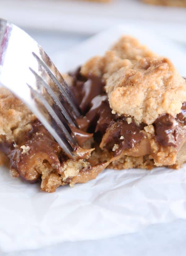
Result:
[[[166,58],[141,58],[115,72],[105,86],[111,109],[146,124],[162,114],[180,113],[185,87],[186,81]]]

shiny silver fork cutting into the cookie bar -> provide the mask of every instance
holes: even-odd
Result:
[[[80,110],[67,83],[42,47],[26,32],[0,19],[0,86],[36,115],[71,159],[78,146],[70,126]]]

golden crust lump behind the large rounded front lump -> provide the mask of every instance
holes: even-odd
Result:
[[[84,76],[90,73],[97,77],[102,76],[106,80],[121,67],[127,67],[143,57],[155,58],[157,54],[140,44],[139,40],[131,36],[122,36],[103,57],[95,56],[88,60],[82,66],[81,73]]]

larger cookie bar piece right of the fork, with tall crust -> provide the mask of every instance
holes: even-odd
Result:
[[[84,114],[90,131],[101,134],[99,147],[118,156],[110,166],[126,168],[126,159],[136,157],[141,161],[137,167],[179,168],[185,161],[180,152],[186,140],[186,81],[169,59],[124,36],[103,57],[85,63],[80,74],[105,83]]]

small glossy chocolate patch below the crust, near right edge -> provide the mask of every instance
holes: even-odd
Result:
[[[177,146],[178,122],[169,114],[161,115],[154,122],[155,140],[162,146]]]

